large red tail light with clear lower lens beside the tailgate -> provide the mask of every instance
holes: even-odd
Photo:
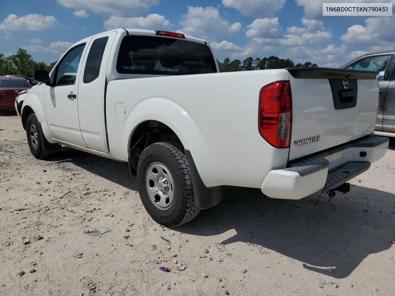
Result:
[[[289,81],[263,86],[259,97],[259,131],[275,148],[289,148],[292,129],[292,96]]]

